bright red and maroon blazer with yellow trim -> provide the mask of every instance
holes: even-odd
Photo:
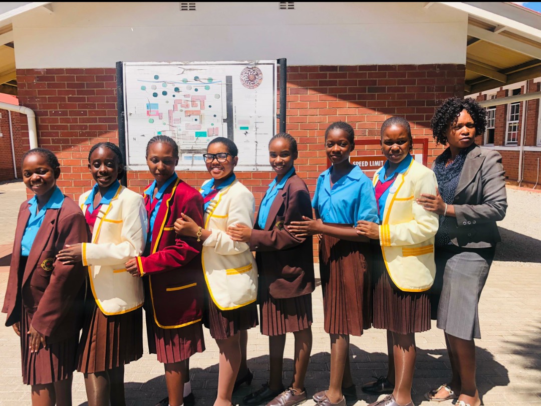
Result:
[[[144,202],[149,212],[150,199],[147,195]],[[203,242],[175,233],[174,224],[181,217],[180,213],[203,226],[201,194],[177,179],[163,194],[154,229],[150,230],[152,244],[149,255],[137,258],[145,279],[145,309],[152,306],[154,321],[163,329],[197,323],[203,314]]]

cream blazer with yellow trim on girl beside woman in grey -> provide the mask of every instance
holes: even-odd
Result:
[[[374,186],[378,182],[374,175]],[[398,174],[389,189],[379,241],[387,272],[394,284],[406,292],[430,289],[436,276],[434,235],[438,231],[438,215],[417,203],[421,193],[435,195],[436,175],[412,160],[406,172]]]

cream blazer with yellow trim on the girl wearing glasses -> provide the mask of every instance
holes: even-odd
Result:
[[[201,261],[213,302],[221,310],[233,310],[253,303],[258,294],[258,268],[247,243],[235,242],[227,227],[254,224],[255,200],[235,180],[223,188],[204,213],[204,228],[212,231],[203,243]]]

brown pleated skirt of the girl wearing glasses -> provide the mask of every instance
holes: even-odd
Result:
[[[212,338],[225,340],[241,330],[249,330],[258,325],[258,305],[253,302],[238,309],[221,310],[207,292],[203,322]]]

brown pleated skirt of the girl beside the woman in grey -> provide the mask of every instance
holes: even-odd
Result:
[[[426,292],[404,292],[389,277],[379,244],[371,244],[373,325],[399,334],[430,330],[430,298]]]

